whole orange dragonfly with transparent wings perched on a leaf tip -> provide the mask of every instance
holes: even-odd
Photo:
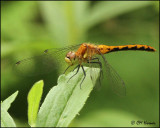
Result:
[[[84,77],[80,83],[80,88],[83,81],[86,78],[86,72],[84,70],[84,66],[90,67],[98,67],[100,69],[100,77],[99,81],[101,81],[101,77],[103,77],[103,69],[105,67],[106,77],[110,81],[110,85],[113,91],[120,95],[126,95],[126,87],[122,78],[118,75],[118,73],[112,68],[112,66],[108,63],[105,58],[105,54],[117,52],[117,51],[128,51],[128,50],[139,50],[139,51],[149,51],[155,52],[156,50],[148,45],[134,44],[134,45],[121,45],[121,46],[108,46],[108,45],[96,45],[92,43],[82,43],[78,45],[72,45],[64,48],[53,48],[47,49],[44,51],[43,55],[35,56],[31,58],[27,58],[21,61],[18,61],[15,66],[16,69],[23,72],[25,68],[31,65],[36,67],[36,64],[33,64],[33,60],[38,59],[37,64],[42,64],[41,69],[37,69],[33,71],[31,75],[36,73],[45,73],[52,71],[55,67],[64,66],[66,64],[66,69],[64,73],[66,73],[69,69],[77,70],[73,76],[70,77],[71,80],[77,73],[80,68],[83,71]],[[42,59],[43,58],[43,59]],[[102,62],[103,61],[103,62]],[[56,65],[57,64],[57,65]],[[94,73],[90,73],[91,79]],[[68,80],[68,81],[69,81]]]

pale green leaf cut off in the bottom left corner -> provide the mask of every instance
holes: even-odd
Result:
[[[6,109],[1,106],[1,126],[2,127],[16,127],[12,117],[9,115]]]

